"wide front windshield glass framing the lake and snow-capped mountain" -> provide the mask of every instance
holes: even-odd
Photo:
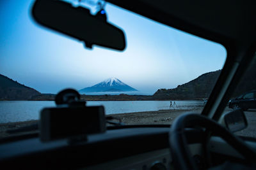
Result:
[[[67,88],[124,124],[172,124],[177,115],[202,111],[226,59],[218,43],[108,3],[108,22],[122,28],[127,46],[90,50],[36,24],[32,4],[1,3],[1,137],[36,123],[40,110],[54,107],[55,95]]]

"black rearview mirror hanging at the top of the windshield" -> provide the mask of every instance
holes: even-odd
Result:
[[[106,21],[106,13],[101,14],[91,15],[86,8],[53,0],[36,0],[32,9],[38,24],[84,41],[88,48],[99,45],[124,50],[124,32]]]

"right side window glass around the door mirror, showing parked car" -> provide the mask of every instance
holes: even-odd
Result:
[[[256,54],[237,84],[236,90],[232,94],[230,101],[228,101],[228,106],[223,113],[228,113],[232,110],[243,110],[248,122],[248,127],[236,132],[236,134],[256,138]]]

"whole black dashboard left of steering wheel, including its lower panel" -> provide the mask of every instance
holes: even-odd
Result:
[[[0,145],[0,162],[10,169],[149,169],[167,167],[172,159],[168,144],[170,127],[112,127],[103,134],[88,135],[86,141],[67,139],[42,143],[38,137]],[[200,139],[200,133],[191,143]],[[192,139],[192,138],[191,138]],[[196,140],[195,140],[196,139]]]

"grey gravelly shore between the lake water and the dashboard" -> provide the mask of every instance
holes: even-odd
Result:
[[[194,110],[159,110],[159,111],[141,111],[132,113],[117,113],[109,114],[106,116],[114,117],[112,122],[122,121],[125,125],[152,125],[152,124],[165,124],[171,125],[173,120],[183,113],[198,113],[202,112],[203,108]],[[225,112],[231,111],[231,109],[226,108]],[[241,136],[250,136],[256,138],[256,122],[254,121],[255,111],[245,111],[246,118],[248,120],[248,127],[242,131],[236,132],[235,134]],[[18,136],[22,134],[32,134],[38,132],[38,130],[32,130],[29,132],[19,132],[15,134],[9,134],[6,131],[19,129],[21,127],[26,127],[29,125],[35,125],[39,120],[28,120],[23,122],[8,122],[0,124],[0,139],[12,136]],[[109,125],[109,124],[107,124]]]

